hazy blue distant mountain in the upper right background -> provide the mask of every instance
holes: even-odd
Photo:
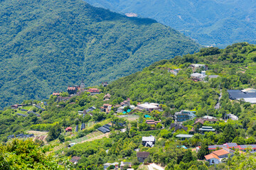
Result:
[[[85,0],[93,6],[154,18],[195,39],[201,45],[225,47],[234,42],[255,43],[253,0]]]

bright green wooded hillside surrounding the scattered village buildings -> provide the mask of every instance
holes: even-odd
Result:
[[[218,75],[217,78],[205,81],[191,79],[191,64],[207,64],[206,75]],[[177,75],[168,72],[168,69],[181,69]],[[201,72],[202,69],[196,70]],[[210,166],[208,162],[202,162],[204,156],[209,154],[208,145],[223,145],[225,142],[235,142],[238,145],[252,145],[256,141],[256,107],[244,100],[232,101],[229,98],[228,89],[255,88],[256,72],[256,46],[247,42],[230,45],[221,50],[217,47],[203,48],[200,52],[183,57],[174,57],[171,60],[161,60],[146,67],[142,72],[137,72],[127,77],[112,82],[107,87],[98,86],[102,94],[91,96],[88,92],[82,92],[78,96],[71,97],[68,101],[58,101],[57,96],[50,96],[44,103],[40,101],[23,101],[23,108],[5,108],[0,111],[0,139],[7,142],[7,135],[28,133],[27,130],[48,131],[46,141],[42,142],[43,148],[57,146],[55,154],[59,159],[67,157],[80,157],[75,169],[102,169],[106,162],[132,162],[132,168],[140,169],[136,151],[149,152],[150,157],[146,162],[154,162],[165,166],[166,169],[255,169],[255,156],[250,152],[235,152],[233,157],[223,160],[223,163]],[[221,96],[220,96],[221,92]],[[110,100],[105,100],[105,94],[110,94]],[[68,96],[65,92],[61,96]],[[219,98],[220,97],[220,98]],[[130,103],[137,106],[139,103],[160,103],[161,111],[134,110],[130,116],[137,117],[134,120],[121,118],[123,113],[116,113],[122,101],[130,98]],[[112,111],[105,113],[100,111],[104,103],[112,105]],[[220,108],[215,108],[220,103]],[[33,104],[40,104],[46,111],[38,109]],[[95,106],[94,111],[85,116],[78,111],[84,111]],[[21,109],[28,109],[40,114],[28,114]],[[124,108],[125,109],[125,108]],[[129,108],[126,108],[126,110]],[[213,127],[215,132],[205,132],[204,135],[195,133],[193,137],[179,140],[176,135],[188,134],[193,128],[194,120],[183,123],[187,130],[174,131],[171,123],[174,123],[174,113],[177,111],[194,111],[196,118],[204,115],[214,116],[218,121],[206,121],[203,125]],[[26,117],[16,115],[22,113]],[[232,113],[238,120],[225,120],[226,115]],[[151,118],[145,118],[149,115]],[[148,125],[146,120],[161,120],[157,125]],[[78,132],[65,132],[68,126],[86,123],[85,130]],[[90,125],[93,124],[93,125]],[[100,140],[86,142],[90,135],[97,135],[102,125],[112,123],[109,136]],[[119,125],[121,123],[123,126]],[[124,128],[125,132],[119,130]],[[154,147],[144,147],[142,137],[154,135],[156,144]],[[84,143],[79,143],[82,140]],[[46,142],[45,141],[45,142]],[[70,143],[77,145],[66,148]],[[60,147],[60,146],[63,147]],[[184,145],[188,149],[183,149]],[[196,149],[200,146],[198,152]],[[1,146],[0,146],[1,149]],[[0,155],[1,156],[1,155]],[[1,162],[1,160],[0,160]],[[247,164],[250,162],[250,164]]]

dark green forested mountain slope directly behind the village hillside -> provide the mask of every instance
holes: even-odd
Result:
[[[0,1],[0,108],[117,79],[198,45],[151,19],[82,0]]]

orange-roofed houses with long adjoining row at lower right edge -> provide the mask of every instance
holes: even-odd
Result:
[[[219,164],[224,158],[228,158],[228,156],[233,157],[235,150],[238,150],[239,152],[246,152],[247,150],[250,150],[251,153],[255,153],[256,145],[225,143],[223,145],[209,145],[208,149],[213,152],[205,156],[206,161],[210,164]]]

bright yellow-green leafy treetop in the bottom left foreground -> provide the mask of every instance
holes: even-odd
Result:
[[[30,139],[0,144],[0,169],[72,169],[68,160],[63,161],[46,154],[46,149]]]

